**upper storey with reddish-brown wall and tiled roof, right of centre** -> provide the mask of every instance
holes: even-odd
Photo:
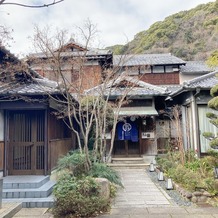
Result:
[[[172,54],[114,55],[113,66],[154,85],[180,84],[180,68],[186,64]]]

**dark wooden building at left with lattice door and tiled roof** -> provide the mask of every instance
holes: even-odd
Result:
[[[4,175],[47,175],[74,138],[52,112],[58,84],[0,49],[0,170]]]

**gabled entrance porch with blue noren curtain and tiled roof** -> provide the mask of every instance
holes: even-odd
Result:
[[[87,90],[90,95],[98,95],[102,86]],[[145,83],[137,78],[121,74],[109,82],[103,90],[104,96],[114,102],[125,96],[128,100],[121,108],[114,108],[119,113],[112,157],[155,156],[158,153],[158,110],[165,108],[164,99],[169,91],[156,85]],[[110,132],[107,133],[110,146]],[[108,148],[109,150],[109,148]]]

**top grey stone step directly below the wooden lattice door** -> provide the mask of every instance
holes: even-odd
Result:
[[[6,176],[3,178],[3,189],[33,189],[43,186],[49,176]]]

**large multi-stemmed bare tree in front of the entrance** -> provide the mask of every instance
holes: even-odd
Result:
[[[34,36],[34,45],[41,53],[28,57],[30,65],[33,69],[37,69],[41,73],[46,72],[45,76],[55,75],[57,81],[60,82],[61,98],[52,98],[59,112],[56,113],[58,118],[63,119],[66,125],[76,135],[78,148],[86,154],[87,168],[91,166],[89,159],[89,148],[91,138],[93,141],[94,159],[103,160],[106,153],[106,133],[110,132],[110,149],[108,151],[107,161],[111,156],[116,133],[116,124],[119,120],[119,110],[123,103],[128,102],[129,92],[133,87],[131,81],[128,81],[126,88],[122,88],[122,95],[116,100],[111,101],[110,96],[114,88],[119,89],[119,82],[126,74],[118,74],[117,69],[105,68],[103,72],[96,73],[95,68],[91,72],[91,77],[87,78],[86,65],[87,57],[90,57],[92,50],[88,49],[88,45],[94,38],[96,26],[86,23],[87,31],[80,29],[84,35],[86,43],[84,47],[76,44],[78,49],[68,50],[69,41],[67,39],[70,34],[67,31],[57,30],[55,36],[49,37],[49,28],[40,30],[36,28]],[[87,35],[86,35],[87,33]],[[70,43],[74,43],[71,39]],[[68,70],[66,69],[68,66]],[[76,77],[73,81],[69,74]],[[90,72],[89,72],[90,73]],[[99,77],[100,75],[100,77]],[[134,78],[132,78],[134,80]],[[85,84],[85,85],[84,85]],[[98,84],[101,84],[95,88]],[[85,88],[89,87],[87,91]],[[66,119],[66,117],[68,119]]]

